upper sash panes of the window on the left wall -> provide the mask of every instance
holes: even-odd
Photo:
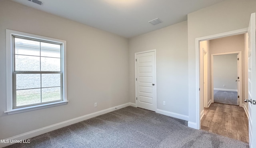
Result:
[[[13,40],[15,49],[14,71],[62,71],[62,44],[56,44],[54,42],[42,42],[42,40],[32,40],[30,38],[23,38],[20,36],[14,36]],[[19,48],[19,50],[23,50],[23,52],[16,53],[17,48]],[[38,50],[39,55],[30,54],[31,51],[35,52]],[[21,65],[20,63],[26,64]],[[32,65],[32,63],[35,63],[35,65]],[[36,67],[37,65],[38,69]]]

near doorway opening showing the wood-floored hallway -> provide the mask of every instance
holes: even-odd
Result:
[[[200,129],[244,142],[249,141],[242,108],[246,37],[239,33],[199,42]]]

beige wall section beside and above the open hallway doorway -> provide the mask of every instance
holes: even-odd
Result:
[[[196,121],[196,38],[248,27],[256,0],[226,0],[188,14],[189,126]]]

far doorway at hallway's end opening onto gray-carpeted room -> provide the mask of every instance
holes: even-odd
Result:
[[[242,106],[242,51],[212,54],[211,61],[213,102]]]

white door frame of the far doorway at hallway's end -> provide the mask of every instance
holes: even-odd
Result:
[[[211,54],[211,82],[212,82],[212,92],[214,92],[214,86],[213,86],[213,82],[214,82],[214,78],[213,78],[213,56],[218,56],[218,55],[225,55],[225,54],[238,54],[239,56],[239,92],[237,92],[237,94],[239,94],[241,97],[239,98],[239,106],[242,107],[242,51],[236,51],[236,52],[225,52],[225,53],[219,53],[219,54]],[[212,103],[214,102],[214,93],[212,93]]]

